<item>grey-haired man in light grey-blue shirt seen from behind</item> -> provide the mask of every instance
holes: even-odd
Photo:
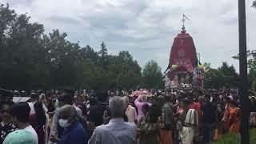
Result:
[[[110,122],[97,126],[89,144],[134,144],[136,143],[137,126],[132,122],[124,122],[123,115],[126,102],[121,97],[110,98]]]

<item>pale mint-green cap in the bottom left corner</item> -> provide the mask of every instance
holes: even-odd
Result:
[[[37,144],[34,135],[27,130],[16,130],[6,136],[3,144]]]

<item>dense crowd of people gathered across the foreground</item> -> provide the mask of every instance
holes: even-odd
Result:
[[[0,144],[194,144],[239,133],[238,90],[31,92],[1,102]],[[250,92],[250,127],[256,127]]]

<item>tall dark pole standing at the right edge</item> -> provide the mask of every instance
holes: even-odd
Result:
[[[247,50],[246,50],[246,5],[245,0],[238,0],[239,25],[239,94],[241,99],[241,143],[249,144],[249,98],[247,86]]]

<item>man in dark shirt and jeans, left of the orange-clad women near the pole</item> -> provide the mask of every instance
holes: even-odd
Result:
[[[205,98],[202,109],[202,136],[206,142],[213,141],[213,131],[218,121],[217,107],[210,102],[210,98]]]

